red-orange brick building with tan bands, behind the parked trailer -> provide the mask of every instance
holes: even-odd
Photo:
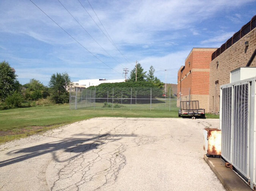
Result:
[[[212,53],[217,48],[193,48],[178,71],[177,106],[180,100],[199,100],[209,112],[209,76]],[[180,93],[181,92],[181,97]],[[181,99],[180,99],[181,98]]]

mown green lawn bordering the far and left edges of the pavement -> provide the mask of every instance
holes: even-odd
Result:
[[[69,105],[36,106],[0,111],[0,143],[47,131],[69,123],[93,117],[178,117],[178,108],[171,111],[122,110],[86,108],[69,110]],[[218,118],[206,114],[206,118]]]

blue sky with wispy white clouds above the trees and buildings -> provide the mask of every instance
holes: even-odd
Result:
[[[122,79],[136,60],[146,71],[153,65],[163,82],[167,69],[167,83],[176,83],[193,47],[219,47],[256,14],[255,0],[89,0],[116,48],[87,0],[60,0],[106,53],[58,0],[32,1],[110,68],[30,0],[1,0],[0,61],[16,69],[22,84],[35,78],[48,85],[56,72],[72,81]]]

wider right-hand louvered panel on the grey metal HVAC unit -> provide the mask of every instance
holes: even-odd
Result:
[[[232,163],[248,176],[248,83],[234,86],[234,140]]]

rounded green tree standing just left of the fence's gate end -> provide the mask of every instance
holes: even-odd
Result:
[[[49,82],[50,86],[50,97],[55,103],[68,103],[69,94],[68,87],[71,83],[69,75],[65,73],[52,74]]]

